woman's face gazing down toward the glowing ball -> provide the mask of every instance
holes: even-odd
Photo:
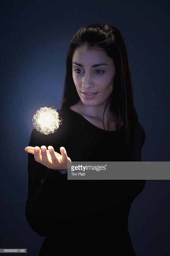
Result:
[[[105,103],[113,90],[115,66],[105,50],[89,49],[86,44],[75,49],[72,77],[84,105]]]

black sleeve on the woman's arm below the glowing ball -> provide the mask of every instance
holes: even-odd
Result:
[[[36,135],[37,131],[33,129],[29,146],[41,146],[37,145]],[[28,199],[25,214],[30,227],[41,236],[55,229],[56,212],[63,217],[61,205],[66,196],[66,182],[63,182],[66,180],[67,173],[62,175],[48,169],[36,162],[33,154],[28,153]]]

